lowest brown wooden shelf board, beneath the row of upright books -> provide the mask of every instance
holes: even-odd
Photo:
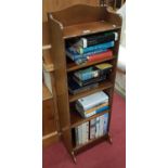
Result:
[[[85,143],[82,145],[75,146],[75,144],[74,144],[73,151],[77,152],[77,151],[79,151],[79,150],[81,150],[83,147],[92,145],[93,143],[99,143],[99,142],[101,142],[101,141],[103,141],[105,139],[107,139],[107,133],[104,134],[104,135],[101,135],[101,137],[99,137],[96,139],[89,140],[87,143]]]

